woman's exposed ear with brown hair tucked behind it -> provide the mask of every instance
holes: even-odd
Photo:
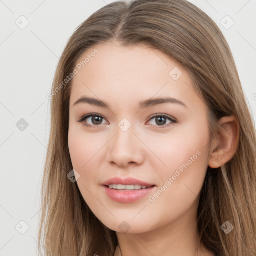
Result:
[[[239,122],[235,116],[224,116],[218,123],[221,126],[209,153],[208,166],[218,168],[232,159],[239,143]]]

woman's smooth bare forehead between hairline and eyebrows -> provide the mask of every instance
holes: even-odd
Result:
[[[118,95],[122,103],[154,96],[176,97],[187,105],[193,104],[193,99],[198,101],[188,72],[161,50],[145,44],[94,45],[83,52],[75,68],[78,72],[72,80],[70,104],[85,94],[108,102]]]

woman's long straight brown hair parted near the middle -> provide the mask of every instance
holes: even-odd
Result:
[[[58,63],[51,93],[51,128],[42,182],[40,255],[113,255],[116,233],[104,226],[82,198],[72,170],[67,136],[69,97],[79,56],[107,40],[160,49],[189,73],[208,109],[211,139],[219,118],[239,121],[233,158],[208,167],[197,211],[205,247],[221,256],[256,255],[256,135],[230,48],[214,21],[185,0],[116,1],[93,13],[70,37]],[[62,86],[60,85],[62,83]],[[53,93],[53,91],[55,91]],[[212,140],[210,140],[212,141]],[[234,229],[226,234],[221,225]]]

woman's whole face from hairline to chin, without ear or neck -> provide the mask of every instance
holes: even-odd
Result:
[[[117,42],[91,47],[75,69],[68,146],[95,216],[128,233],[195,219],[209,127],[185,69],[160,50]]]

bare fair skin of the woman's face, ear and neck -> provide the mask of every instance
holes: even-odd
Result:
[[[220,120],[226,133],[219,134],[209,148],[206,105],[182,66],[160,50],[122,47],[118,42],[93,46],[77,63],[94,48],[99,52],[73,78],[68,146],[84,200],[105,226],[116,231],[115,256],[213,256],[199,241],[196,211],[207,167],[221,166],[236,151],[236,119]],[[174,73],[182,72],[178,79],[169,74],[173,68],[178,68]],[[108,108],[74,105],[82,96],[102,100]],[[139,108],[139,101],[165,97],[185,106],[165,102]],[[103,118],[78,121],[90,113]],[[164,116],[157,121],[161,114],[176,122]],[[123,118],[131,124],[126,131],[118,126]],[[134,177],[155,187],[134,202],[117,202],[102,186],[116,176]],[[157,196],[159,189],[162,193]],[[128,223],[125,232],[122,223]]]

